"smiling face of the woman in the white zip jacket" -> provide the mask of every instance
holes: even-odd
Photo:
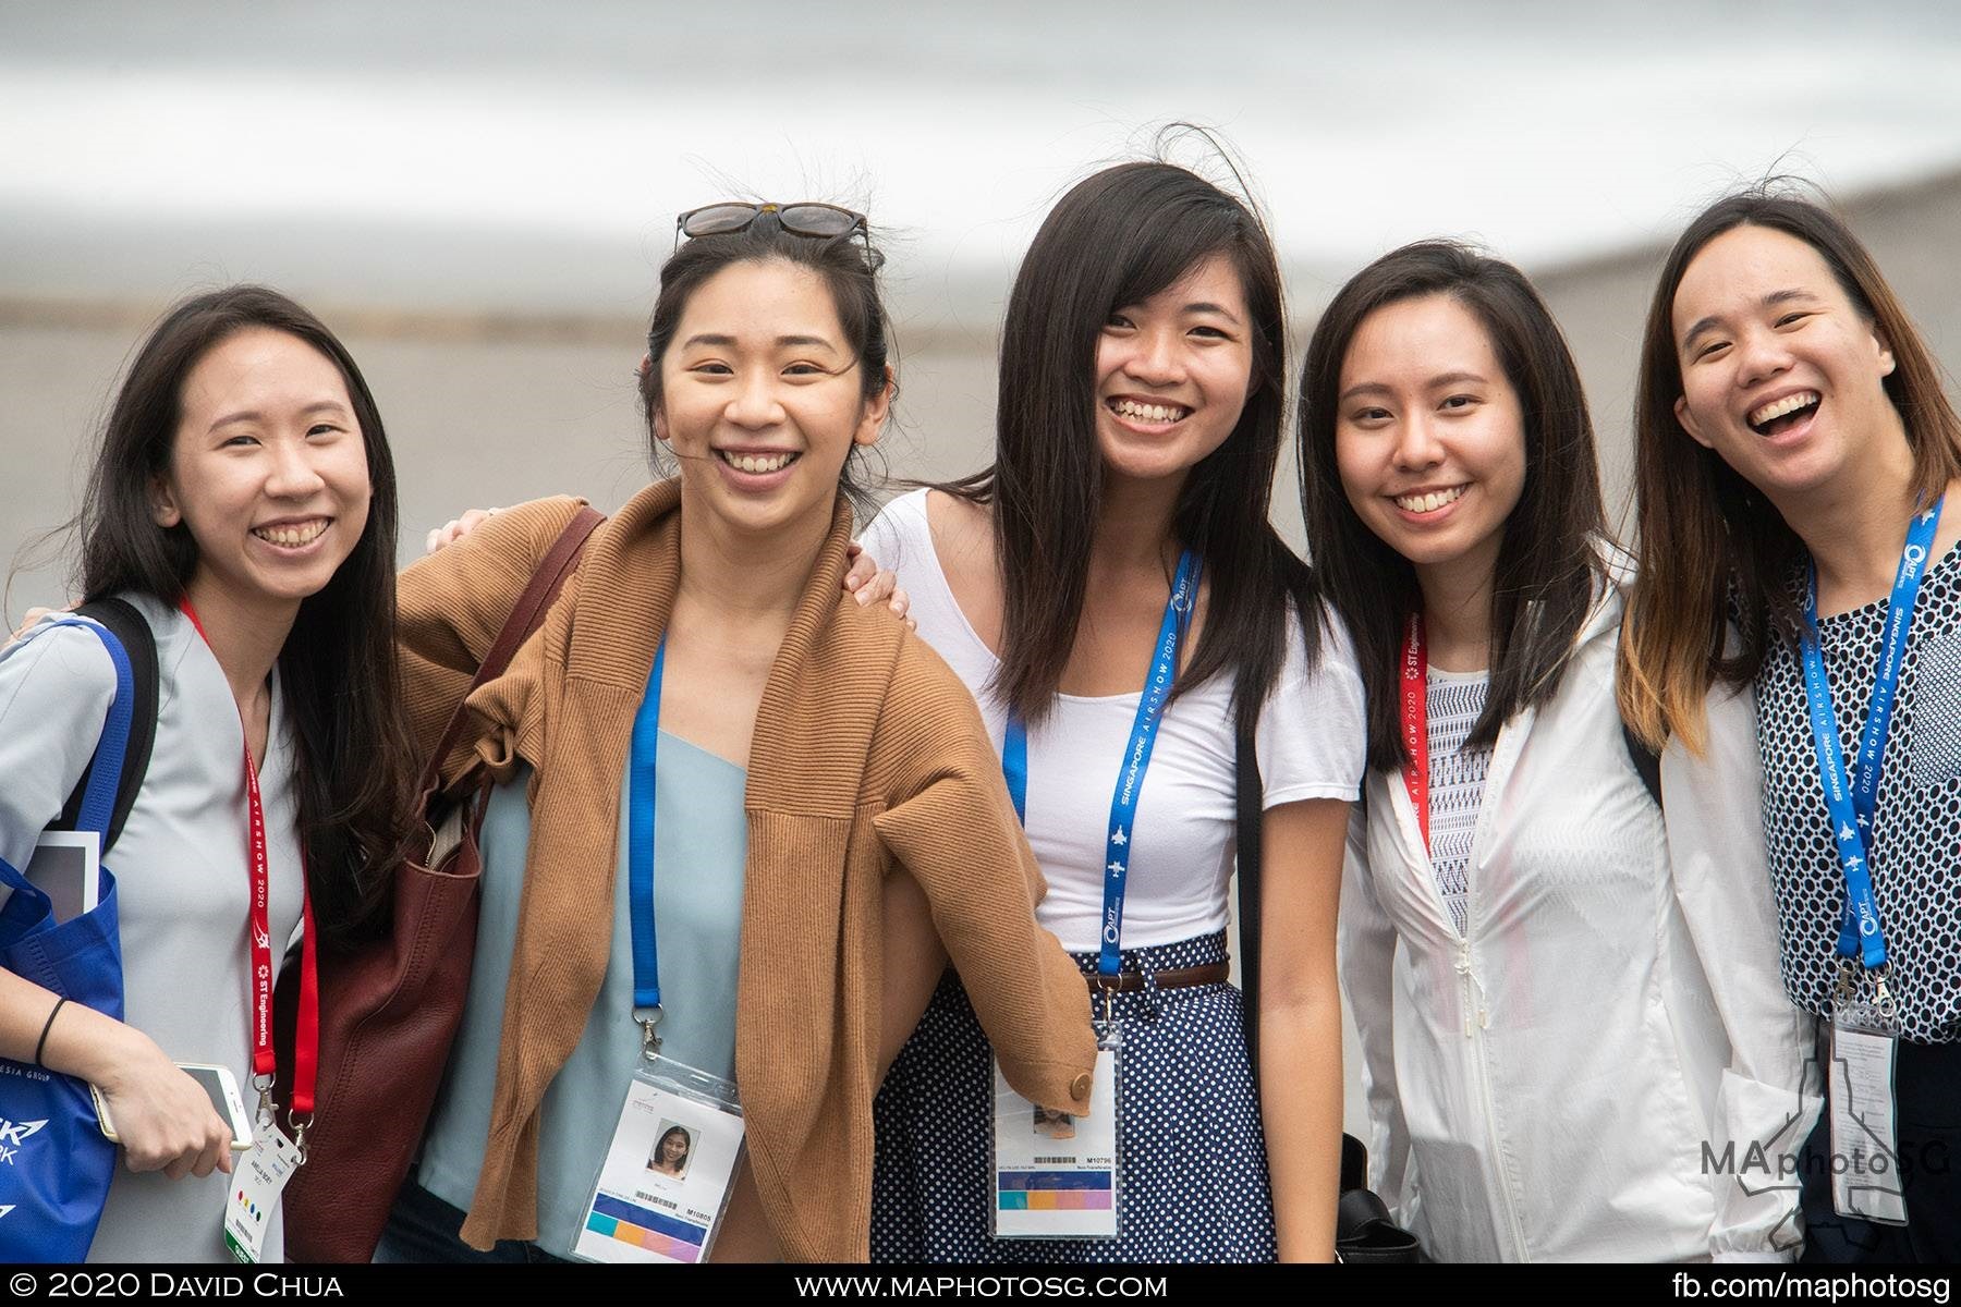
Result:
[[[1341,361],[1335,466],[1357,517],[1418,568],[1494,568],[1526,488],[1518,392],[1457,298],[1386,304]]]

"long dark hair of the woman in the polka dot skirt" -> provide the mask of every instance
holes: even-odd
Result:
[[[947,494],[994,509],[1006,605],[994,692],[1041,721],[1069,664],[1088,588],[1102,500],[1096,339],[1110,314],[1222,255],[1251,314],[1253,376],[1239,423],[1186,476],[1177,539],[1212,586],[1204,631],[1179,688],[1233,674],[1237,725],[1251,729],[1286,656],[1294,602],[1310,666],[1322,609],[1308,566],[1267,521],[1286,411],[1281,268],[1259,218],[1169,163],[1126,163],[1079,182],[1028,247],[1000,341],[994,464]]]

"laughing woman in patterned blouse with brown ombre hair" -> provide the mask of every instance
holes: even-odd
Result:
[[[1630,721],[1696,743],[1755,684],[1785,990],[1835,1041],[1812,1254],[1961,1260],[1961,419],[1857,237],[1755,190],[1669,255],[1635,439]]]

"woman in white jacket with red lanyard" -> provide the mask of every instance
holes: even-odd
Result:
[[[1751,703],[1710,702],[1657,803],[1584,396],[1530,282],[1445,243],[1365,268],[1308,347],[1300,464],[1369,690],[1341,972],[1375,1186],[1439,1260],[1794,1254],[1779,1166],[1816,1099]]]

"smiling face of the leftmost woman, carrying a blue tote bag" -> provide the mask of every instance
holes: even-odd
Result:
[[[367,445],[339,368],[269,327],[214,345],[184,378],[151,500],[157,525],[182,523],[196,541],[192,592],[296,609],[367,529]]]

